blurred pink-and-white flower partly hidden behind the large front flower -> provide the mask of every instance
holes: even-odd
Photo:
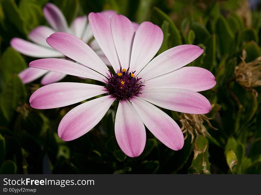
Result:
[[[82,16],[75,18],[69,27],[66,19],[61,12],[61,10],[52,3],[47,3],[43,8],[44,17],[49,23],[48,26],[38,26],[34,28],[28,35],[28,38],[32,41],[26,41],[20,38],[13,38],[10,45],[18,52],[31,57],[37,58],[65,58],[62,53],[54,50],[50,45],[47,44],[46,38],[55,32],[66,32],[75,35],[76,37],[82,39],[85,43],[89,43],[93,37],[90,25],[87,23],[87,16]],[[103,14],[111,17],[115,14],[115,11],[106,10],[102,12]],[[137,24],[134,24],[137,26]],[[101,48],[98,46],[95,39],[89,43],[90,47],[95,50],[98,56],[104,61],[104,63],[109,64],[108,59],[102,52]],[[35,69],[28,67],[18,75],[24,84],[30,83],[39,77],[45,76],[41,80],[42,85],[47,85],[50,83],[55,83],[63,79],[66,74],[58,72],[50,72],[41,69]]]

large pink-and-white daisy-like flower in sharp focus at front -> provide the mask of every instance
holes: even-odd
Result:
[[[126,155],[139,156],[144,150],[145,126],[163,144],[180,150],[184,144],[181,129],[155,105],[186,113],[209,112],[211,104],[196,91],[212,88],[216,84],[215,77],[203,68],[182,68],[198,58],[203,50],[195,45],[180,45],[151,60],[163,41],[163,32],[158,26],[143,22],[135,32],[130,20],[122,15],[115,14],[110,19],[101,13],[90,13],[88,18],[93,35],[115,73],[110,72],[81,39],[71,34],[54,33],[47,38],[47,43],[80,64],[47,58],[33,61],[30,66],[88,77],[103,82],[104,86],[86,83],[46,85],[32,94],[31,107],[57,108],[106,94],[69,111],[59,124],[59,137],[70,141],[87,133],[103,118],[112,103],[118,101],[115,136]]]

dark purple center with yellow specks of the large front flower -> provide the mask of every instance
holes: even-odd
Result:
[[[141,78],[135,77],[134,72],[129,72],[129,68],[121,69],[120,72],[108,78],[106,89],[109,95],[112,95],[117,100],[130,99],[132,96],[136,96],[140,93],[140,88],[145,85],[141,85]]]

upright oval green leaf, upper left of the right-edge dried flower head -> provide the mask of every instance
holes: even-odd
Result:
[[[234,34],[231,31],[227,20],[223,16],[217,19],[216,33],[219,38],[219,50],[221,55],[230,52],[230,47],[234,40]]]

